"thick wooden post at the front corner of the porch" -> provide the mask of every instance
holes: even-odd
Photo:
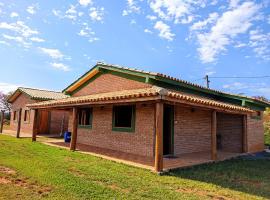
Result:
[[[155,171],[163,170],[163,108],[162,102],[156,103],[156,146],[155,146]]]

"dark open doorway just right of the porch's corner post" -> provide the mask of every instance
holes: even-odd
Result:
[[[163,155],[173,155],[173,126],[174,126],[174,107],[164,105],[163,116]]]

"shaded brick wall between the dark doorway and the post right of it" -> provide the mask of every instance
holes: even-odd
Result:
[[[211,112],[175,106],[175,154],[211,150]]]

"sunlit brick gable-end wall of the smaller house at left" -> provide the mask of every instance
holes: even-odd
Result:
[[[17,121],[13,121],[14,111],[17,111],[17,120],[18,120],[18,110],[22,108],[22,115],[21,115],[21,132],[24,133],[32,133],[33,130],[33,120],[34,120],[34,111],[32,110],[30,112],[30,120],[28,122],[24,121],[24,111],[29,110],[26,107],[26,104],[28,103],[35,103],[35,100],[30,99],[25,94],[21,94],[11,105],[12,111],[11,111],[11,117],[10,117],[10,128],[11,130],[16,131],[17,130]]]

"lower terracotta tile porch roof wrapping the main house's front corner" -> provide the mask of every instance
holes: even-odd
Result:
[[[108,93],[100,93],[100,94],[93,94],[87,96],[80,96],[80,97],[69,97],[64,99],[58,100],[50,100],[44,101],[34,104],[28,104],[27,106],[30,108],[44,108],[44,107],[61,107],[67,105],[74,105],[74,104],[93,104],[94,102],[104,102],[106,101],[119,101],[123,99],[137,99],[142,97],[154,97],[154,96],[163,96],[163,97],[170,97],[173,99],[183,100],[186,103],[195,103],[198,105],[207,105],[215,108],[221,109],[228,109],[234,111],[241,111],[241,112],[253,112],[252,110],[242,107],[236,106],[233,104],[223,103],[219,101],[215,101],[208,98],[203,98],[195,95],[189,95],[186,93],[176,92],[167,90],[161,87],[153,86],[151,88],[144,88],[144,89],[136,89],[136,90],[123,90],[123,91],[116,91],[116,92],[108,92]]]

